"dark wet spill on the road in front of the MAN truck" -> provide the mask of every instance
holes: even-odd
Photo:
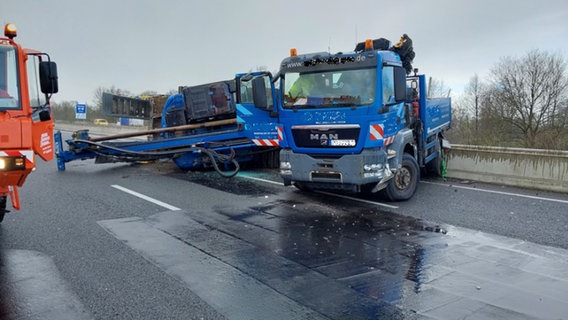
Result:
[[[343,307],[341,312],[327,310],[331,304],[311,306],[332,318],[414,315],[414,311],[399,308],[397,304],[408,293],[418,294],[422,283],[429,280],[433,274],[429,261],[436,260],[440,250],[446,247],[443,237],[447,231],[376,209],[339,204],[332,207],[317,202],[277,200],[240,214],[231,209],[220,209],[219,213],[248,226],[276,232],[276,235],[255,232],[254,237],[245,238],[325,277],[325,284],[294,285],[294,291],[287,294],[295,299],[309,305],[310,290],[315,286],[321,290],[315,294],[323,297],[343,292],[333,303],[333,307]],[[308,294],[304,295],[302,290]]]

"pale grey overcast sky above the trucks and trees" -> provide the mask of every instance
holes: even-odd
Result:
[[[459,93],[501,57],[568,57],[568,1],[2,0],[0,22],[58,64],[55,101],[91,103],[99,87],[133,94],[230,79],[298,53],[351,51],[403,33],[414,67]]]

